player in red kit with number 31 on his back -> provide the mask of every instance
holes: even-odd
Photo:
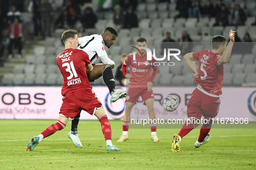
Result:
[[[106,139],[107,151],[120,151],[112,145],[110,123],[87,78],[86,73],[90,73],[93,67],[88,54],[77,49],[79,43],[77,34],[78,32],[73,30],[67,30],[62,34],[65,50],[56,58],[64,78],[62,83],[63,103],[59,119],[57,123],[48,126],[40,135],[33,137],[27,145],[27,151],[32,151],[42,139],[65,128],[68,119],[73,120],[81,110],[95,115],[99,119]]]

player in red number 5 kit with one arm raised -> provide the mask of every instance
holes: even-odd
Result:
[[[211,135],[208,133],[211,130],[212,118],[217,116],[220,106],[219,95],[222,94],[223,64],[227,63],[230,58],[235,42],[235,32],[230,30],[230,42],[228,45],[226,38],[217,35],[211,39],[211,51],[202,50],[196,53],[188,53],[184,56],[188,66],[194,72],[192,77],[195,79],[194,82],[198,83],[198,87],[195,88],[188,101],[187,115],[190,121],[187,121],[182,126],[178,135],[173,135],[172,152],[180,152],[179,143],[181,139],[200,124],[196,120],[201,119],[201,116],[204,116],[207,123],[204,123],[201,127],[200,135],[194,146],[199,148],[210,140]],[[195,60],[199,61],[199,69]]]

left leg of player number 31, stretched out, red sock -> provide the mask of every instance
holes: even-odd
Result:
[[[68,117],[59,116],[57,123],[54,123],[48,126],[41,134],[31,139],[31,141],[27,145],[26,150],[33,151],[36,145],[38,145],[39,142],[42,141],[42,139],[54,134],[58,130],[64,129],[67,123],[68,123]]]

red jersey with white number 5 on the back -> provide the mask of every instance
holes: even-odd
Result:
[[[210,50],[201,50],[193,53],[193,57],[199,61],[199,78],[194,82],[210,94],[222,94],[223,65],[218,66],[221,55]]]

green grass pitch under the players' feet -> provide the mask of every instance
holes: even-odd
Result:
[[[211,140],[194,148],[199,129],[181,142],[181,152],[172,153],[172,135],[179,129],[157,129],[160,143],[151,141],[150,129],[130,129],[130,140],[117,143],[122,122],[110,121],[112,142],[120,152],[106,150],[99,121],[81,120],[78,133],[83,148],[68,139],[71,122],[65,129],[43,139],[34,151],[26,151],[33,136],[55,120],[0,120],[1,170],[80,169],[256,169],[256,129],[211,129]]]

